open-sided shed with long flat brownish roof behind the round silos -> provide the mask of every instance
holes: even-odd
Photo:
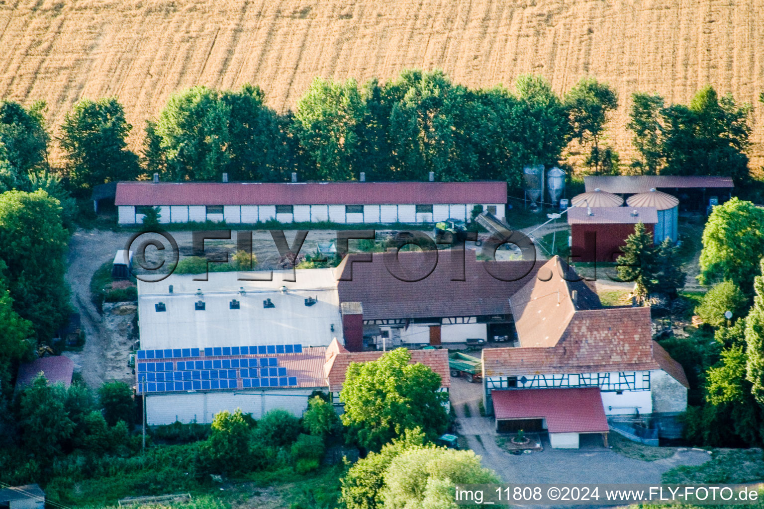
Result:
[[[600,188],[623,198],[657,189],[676,196],[683,211],[706,211],[711,202],[724,203],[734,187],[730,177],[681,175],[587,176],[584,185],[587,192]]]

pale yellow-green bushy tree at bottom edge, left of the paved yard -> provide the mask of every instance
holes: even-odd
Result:
[[[381,495],[385,509],[458,509],[456,484],[498,482],[474,451],[432,448],[406,451],[390,462]],[[480,507],[477,504],[474,507]]]

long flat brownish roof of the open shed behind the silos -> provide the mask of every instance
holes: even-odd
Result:
[[[632,194],[648,192],[652,188],[731,188],[730,177],[702,175],[597,175],[584,177],[587,192],[600,188],[603,191]]]

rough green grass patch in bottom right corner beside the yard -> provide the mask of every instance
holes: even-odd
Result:
[[[703,465],[677,466],[661,476],[661,482],[704,484],[752,482],[764,479],[762,449],[714,449]]]

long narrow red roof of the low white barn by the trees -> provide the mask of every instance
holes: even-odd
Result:
[[[119,182],[115,205],[507,203],[507,182]]]

